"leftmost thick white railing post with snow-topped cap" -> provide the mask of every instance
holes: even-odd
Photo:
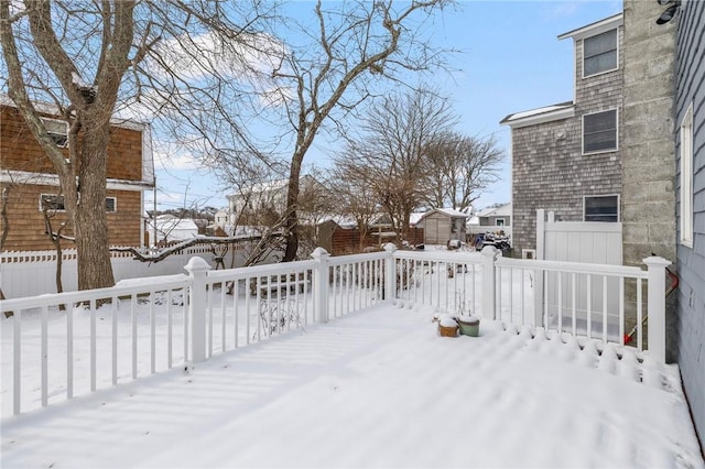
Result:
[[[191,331],[191,360],[196,363],[206,359],[206,275],[210,265],[197,255],[184,266],[191,277],[188,292],[188,319]]]

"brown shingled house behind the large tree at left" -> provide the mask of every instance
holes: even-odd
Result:
[[[61,148],[66,146],[67,127],[52,119],[46,107],[43,118],[50,134]],[[53,249],[45,232],[43,207],[48,206],[55,217],[53,229],[66,220],[58,177],[44,150],[36,142],[24,118],[9,98],[0,97],[0,193],[7,189],[8,238],[7,251]],[[145,190],[154,187],[152,145],[148,124],[115,121],[110,131],[107,162],[108,234],[112,246],[143,244]],[[66,150],[66,156],[68,151]],[[0,221],[0,229],[4,228]],[[70,230],[63,234],[72,236]],[[65,242],[65,247],[69,247]]]

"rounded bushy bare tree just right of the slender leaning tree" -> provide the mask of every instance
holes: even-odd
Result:
[[[408,239],[411,212],[424,200],[427,149],[455,119],[448,101],[435,91],[387,96],[371,108],[361,134],[348,148],[349,156],[338,162],[373,190],[400,239]]]

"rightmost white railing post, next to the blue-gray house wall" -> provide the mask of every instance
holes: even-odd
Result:
[[[665,268],[671,263],[663,258],[643,260],[649,268],[647,314],[649,315],[649,356],[665,363]]]

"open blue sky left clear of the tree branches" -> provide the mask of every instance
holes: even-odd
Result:
[[[301,1],[296,9],[311,9]],[[573,42],[557,35],[621,11],[620,0],[584,1],[462,1],[433,19],[433,41],[460,52],[451,57],[452,74],[434,75],[432,85],[444,90],[459,116],[457,130],[469,135],[495,135],[507,159],[501,181],[476,203],[484,208],[510,201],[510,130],[499,121],[507,114],[573,98]],[[321,140],[307,163],[325,167],[335,151]],[[221,187],[207,170],[187,157],[166,167],[156,159],[160,208],[221,207]],[[152,196],[145,196],[152,207]]]

